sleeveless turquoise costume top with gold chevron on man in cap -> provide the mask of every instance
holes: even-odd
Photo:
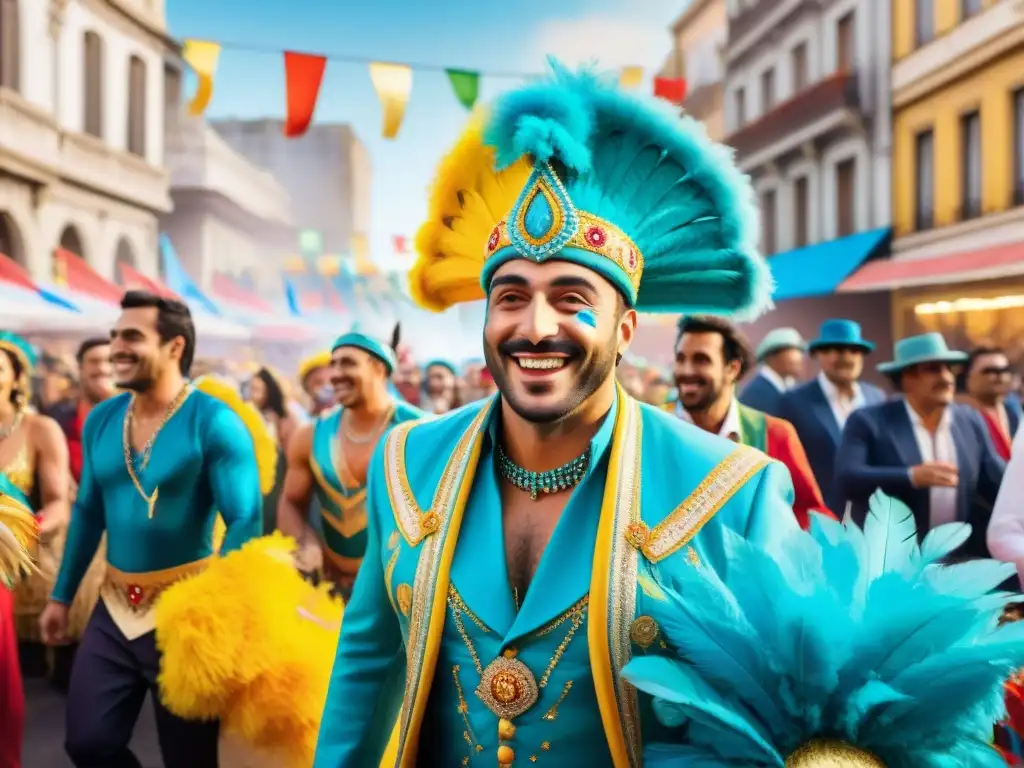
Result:
[[[324,542],[330,554],[342,562],[360,560],[367,550],[366,485],[346,487],[338,476],[338,427],[344,409],[333,408],[313,422],[309,468],[316,480],[314,490],[321,507]],[[423,417],[423,412],[402,400],[395,401],[394,414],[384,435],[396,424]],[[383,439],[383,436],[382,436]],[[352,563],[352,570],[358,564]]]

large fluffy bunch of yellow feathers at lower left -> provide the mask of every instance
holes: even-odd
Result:
[[[169,588],[157,605],[162,700],[219,719],[274,765],[312,765],[343,606],[295,570],[295,542],[257,539]]]

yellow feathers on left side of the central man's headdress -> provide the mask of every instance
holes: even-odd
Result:
[[[522,159],[495,171],[483,143],[485,115],[475,114],[441,161],[430,190],[428,219],[416,234],[419,254],[409,273],[413,300],[436,312],[484,298],[480,288],[487,239],[508,215],[532,171]]]

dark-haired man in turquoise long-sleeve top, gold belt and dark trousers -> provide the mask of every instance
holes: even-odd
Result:
[[[60,642],[68,606],[106,532],[108,575],[72,673],[66,748],[77,768],[139,768],[128,749],[153,693],[166,768],[216,768],[218,725],[180,719],[160,702],[154,604],[221,551],[258,537],[262,498],[252,438],[224,402],[195,390],[188,308],[129,292],[111,333],[117,385],[83,430],[83,468],[44,640]]]

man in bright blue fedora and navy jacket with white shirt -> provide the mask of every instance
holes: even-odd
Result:
[[[836,487],[836,452],[846,421],[858,408],[886,399],[881,389],[859,381],[864,357],[873,349],[874,344],[861,335],[858,323],[825,321],[818,338],[808,345],[821,371],[781,397],[779,416],[796,427],[825,503],[837,512],[846,506]]]

